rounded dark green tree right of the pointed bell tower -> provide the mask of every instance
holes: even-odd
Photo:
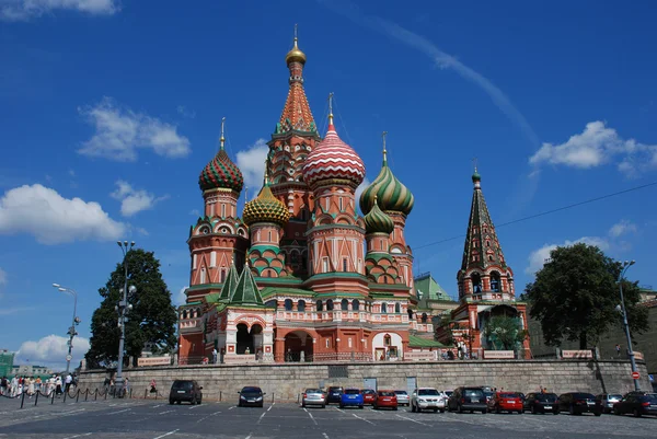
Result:
[[[600,249],[584,243],[556,247],[549,262],[527,285],[530,315],[541,323],[545,343],[561,346],[564,339],[579,340],[588,348],[609,328],[622,322],[618,278],[622,265]],[[641,301],[638,282],[623,281],[631,331],[648,327],[647,309]]]

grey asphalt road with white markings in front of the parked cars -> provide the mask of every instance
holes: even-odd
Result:
[[[496,415],[376,412],[336,406],[301,408],[265,403],[169,405],[166,401],[107,400],[31,405],[0,398],[0,438],[20,439],[261,439],[261,438],[652,438],[657,418],[592,415]]]

